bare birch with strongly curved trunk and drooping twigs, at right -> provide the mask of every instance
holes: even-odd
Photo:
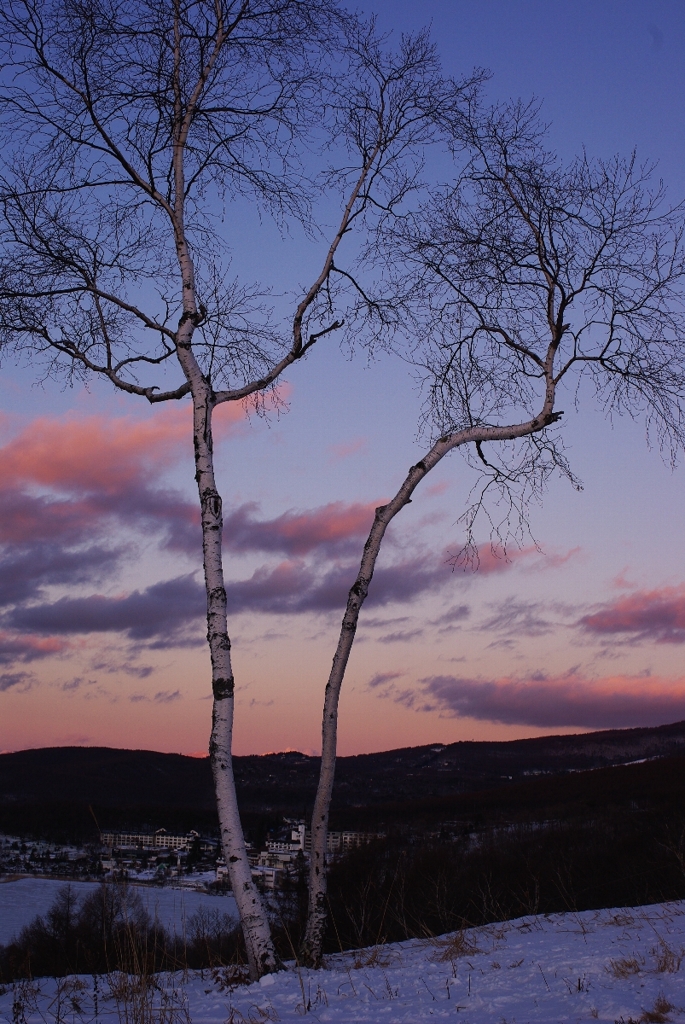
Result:
[[[483,510],[506,544],[551,474],[575,482],[555,426],[562,393],[576,402],[594,393],[608,415],[643,417],[648,436],[672,459],[685,440],[683,208],[666,207],[651,168],[635,158],[592,162],[584,155],[564,167],[544,142],[534,106],[473,104],[452,135],[462,165],[456,181],[418,213],[388,217],[379,243],[387,275],[378,301],[394,310],[395,330],[409,325],[421,339],[415,364],[427,388],[424,427],[433,436],[394,498],[376,510],[326,688],[303,945],[312,965],[320,961],[327,919],[340,690],[393,518],[460,449],[483,474],[461,517],[462,554],[477,558],[473,528]]]

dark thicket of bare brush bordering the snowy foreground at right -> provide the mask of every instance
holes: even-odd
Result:
[[[401,837],[355,850],[331,871],[329,951],[524,914],[685,898],[685,818],[636,813],[512,825],[463,841]]]

